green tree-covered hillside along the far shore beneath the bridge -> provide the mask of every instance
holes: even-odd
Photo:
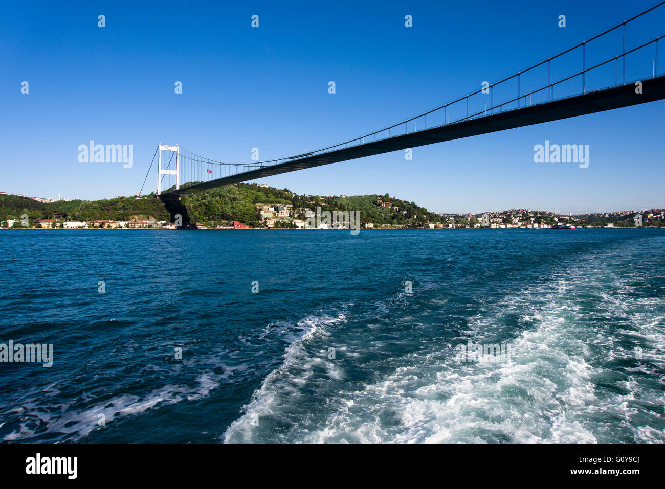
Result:
[[[188,184],[184,184],[188,185]],[[390,202],[392,208],[383,208],[376,201]],[[30,223],[36,223],[39,219],[53,219],[58,214],[67,220],[95,221],[110,219],[113,221],[144,221],[155,219],[156,221],[174,221],[174,215],[180,213],[183,217],[182,223],[201,223],[205,226],[217,226],[240,221],[252,227],[265,225],[261,221],[261,215],[257,211],[257,204],[275,206],[279,204],[291,205],[292,217],[305,220],[305,214],[298,209],[309,209],[316,212],[317,207],[321,211],[346,211],[354,213],[360,211],[361,223],[373,223],[375,226],[422,226],[429,221],[438,223],[448,220],[460,227],[466,227],[467,217],[462,215],[448,214],[444,217],[423,209],[412,201],[396,199],[389,194],[385,195],[350,195],[348,197],[322,196],[322,195],[297,195],[288,189],[275,189],[273,187],[259,187],[259,185],[248,183],[236,183],[217,189],[200,191],[191,195],[183,195],[180,201],[168,201],[164,205],[154,195],[142,197],[116,197],[115,199],[102,199],[97,201],[58,201],[42,203],[29,197],[19,195],[0,194],[0,221],[7,219],[21,219],[21,215],[27,214]],[[642,211],[646,212],[646,211]],[[521,224],[529,222],[536,224],[555,224],[556,215],[549,211],[502,211],[490,213],[494,222],[512,223],[515,215],[520,216]],[[523,216],[524,214],[524,216]],[[528,214],[528,215],[527,215]],[[644,216],[644,226],[663,227],[665,221],[662,219],[662,210],[652,209]],[[570,216],[577,225],[591,225],[604,227],[607,223],[614,223],[614,227],[635,227],[635,211],[618,211],[603,214],[583,214]],[[354,216],[355,217],[355,216]],[[498,221],[495,218],[500,218]],[[454,221],[452,221],[454,218]],[[560,217],[567,220],[569,216]],[[475,222],[474,222],[475,221]],[[471,218],[471,224],[477,223],[477,219]],[[4,224],[7,226],[7,223]],[[15,224],[21,227],[20,223]],[[293,227],[288,221],[277,221],[275,227]]]

